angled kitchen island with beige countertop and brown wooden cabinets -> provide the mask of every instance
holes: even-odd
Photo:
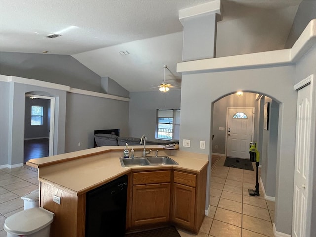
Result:
[[[40,206],[55,213],[51,236],[84,237],[86,193],[123,175],[128,176],[127,230],[172,223],[197,233],[205,215],[208,156],[163,146],[146,148],[158,150],[158,156],[169,156],[178,165],[122,167],[121,146],[29,160],[27,165],[38,168]],[[135,156],[141,156],[143,146],[134,150]],[[161,192],[157,193],[158,187]],[[140,199],[146,197],[144,191],[148,197],[164,195],[163,203],[146,206],[146,199]],[[54,195],[61,197],[60,204],[53,202]],[[160,204],[165,207],[163,213],[155,216]]]

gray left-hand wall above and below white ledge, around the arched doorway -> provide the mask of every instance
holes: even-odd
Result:
[[[68,55],[1,52],[0,60],[3,75],[104,92],[101,77]],[[109,94],[129,96],[129,92],[112,79],[107,80],[106,86]],[[93,147],[93,131],[96,129],[120,128],[121,134],[128,136],[128,102],[67,93],[66,118],[66,91],[1,82],[1,165],[23,162],[24,101],[25,93],[29,92],[56,99],[54,155]]]

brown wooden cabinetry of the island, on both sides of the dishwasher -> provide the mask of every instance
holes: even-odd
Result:
[[[198,233],[205,216],[207,165],[199,173],[170,167],[128,176],[127,229],[172,223]],[[55,213],[50,236],[85,237],[86,193],[50,182],[40,182],[40,190],[40,206]],[[53,195],[61,197],[60,205]]]

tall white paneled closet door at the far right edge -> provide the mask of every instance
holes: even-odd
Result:
[[[292,236],[310,236],[311,200],[309,195],[309,178],[312,170],[311,119],[312,93],[311,85],[297,93],[296,147],[294,173],[294,200]],[[315,132],[315,127],[314,131]]]

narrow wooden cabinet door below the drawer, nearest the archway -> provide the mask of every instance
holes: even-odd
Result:
[[[195,188],[173,184],[172,221],[190,229],[194,227]]]

